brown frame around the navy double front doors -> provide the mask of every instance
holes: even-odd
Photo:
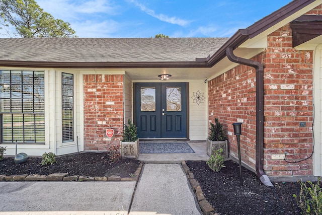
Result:
[[[136,124],[136,90],[135,90],[135,86],[136,84],[139,84],[139,83],[144,83],[144,82],[135,82],[133,83],[132,85],[132,93],[133,93],[133,123]],[[160,82],[149,82],[149,83],[160,83]],[[190,130],[190,126],[189,126],[189,82],[171,82],[171,83],[185,83],[186,84],[186,137],[179,137],[179,138],[140,138],[141,140],[143,139],[148,139],[148,140],[163,140],[163,139],[180,139],[180,140],[189,140],[189,130]]]

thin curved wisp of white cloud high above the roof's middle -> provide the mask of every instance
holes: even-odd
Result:
[[[180,25],[180,26],[186,26],[190,23],[190,21],[183,20],[177,17],[168,17],[164,14],[155,14],[155,12],[151,9],[146,8],[144,5],[136,2],[135,0],[129,0],[129,2],[133,3],[135,6],[139,7],[141,11],[145,12],[146,14],[150,15],[151,17],[154,17],[160,21]]]

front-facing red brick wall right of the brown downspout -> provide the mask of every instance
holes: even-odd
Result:
[[[268,36],[264,54],[264,169],[271,176],[312,175],[313,53],[292,48],[286,25]],[[305,122],[306,127],[299,127]]]

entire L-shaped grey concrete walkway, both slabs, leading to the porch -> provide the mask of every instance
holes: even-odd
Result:
[[[145,164],[136,181],[0,182],[0,214],[202,214],[179,164]]]

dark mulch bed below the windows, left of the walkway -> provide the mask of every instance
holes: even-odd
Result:
[[[134,159],[121,159],[113,162],[108,153],[79,153],[56,157],[56,163],[41,166],[41,158],[30,157],[27,162],[15,164],[13,157],[0,161],[0,175],[66,173],[90,177],[112,175],[130,177],[140,162]]]

